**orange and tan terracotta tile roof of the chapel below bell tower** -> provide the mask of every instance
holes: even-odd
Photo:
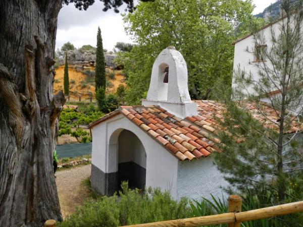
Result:
[[[220,151],[216,146],[221,142],[217,135],[224,129],[216,119],[223,118],[226,108],[219,102],[209,100],[197,100],[195,103],[198,115],[185,119],[180,119],[159,106],[121,106],[92,123],[90,128],[121,113],[180,160],[199,159]],[[266,127],[277,127],[273,122],[277,122],[279,116],[274,109],[262,106],[262,110],[270,116],[268,120],[255,105],[248,103],[246,108]],[[303,125],[299,126],[295,122],[291,124],[293,131],[303,129]]]

